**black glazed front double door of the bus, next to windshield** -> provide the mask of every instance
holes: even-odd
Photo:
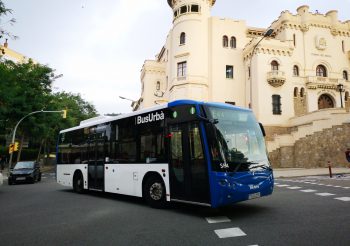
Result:
[[[170,125],[171,199],[210,204],[208,168],[198,122]]]

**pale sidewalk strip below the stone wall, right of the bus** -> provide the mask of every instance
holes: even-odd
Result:
[[[333,175],[336,174],[350,174],[350,168],[332,168]],[[327,168],[275,168],[273,169],[275,178],[290,178],[290,177],[303,177],[303,176],[316,176],[316,175],[328,175],[329,170]]]

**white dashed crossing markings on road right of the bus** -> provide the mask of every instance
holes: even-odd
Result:
[[[319,179],[322,180],[322,179]],[[330,193],[327,191],[321,191],[320,189],[327,189],[327,188],[337,188],[337,189],[345,189],[348,190],[350,189],[349,186],[341,186],[341,185],[331,185],[331,184],[324,184],[324,183],[317,183],[316,181],[317,178],[304,178],[304,179],[297,179],[297,180],[293,180],[293,179],[276,179],[277,182],[275,182],[275,186],[279,187],[279,188],[286,188],[289,190],[295,190],[295,191],[300,191],[303,193],[310,193],[310,194],[314,194],[316,196],[320,196],[320,197],[332,197],[334,200],[337,201],[342,201],[342,202],[350,202],[350,194],[349,196],[345,196],[345,197],[338,197],[337,194],[334,193]],[[283,183],[281,183],[283,182]],[[292,184],[285,184],[285,182],[291,182]],[[298,183],[298,186],[295,186],[293,184]],[[314,185],[314,186],[318,186],[320,187],[320,189],[309,189],[306,187],[302,187],[302,184],[305,185]]]

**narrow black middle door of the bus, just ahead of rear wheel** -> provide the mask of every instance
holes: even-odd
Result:
[[[104,140],[90,142],[88,186],[90,190],[104,190]]]

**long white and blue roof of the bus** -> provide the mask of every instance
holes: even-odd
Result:
[[[100,125],[100,124],[104,124],[107,122],[111,122],[111,121],[115,121],[115,120],[119,120],[119,119],[124,119],[124,118],[132,117],[132,116],[136,116],[136,115],[140,115],[140,114],[144,114],[144,113],[148,113],[148,112],[152,112],[152,111],[156,111],[156,110],[160,110],[160,109],[164,109],[164,108],[170,108],[170,107],[181,106],[181,105],[189,105],[189,104],[190,105],[194,104],[194,105],[214,106],[214,107],[219,107],[219,108],[229,108],[229,109],[235,109],[235,110],[240,110],[240,111],[251,111],[250,109],[233,106],[233,105],[227,104],[227,103],[203,102],[203,101],[195,101],[195,100],[176,100],[176,101],[172,101],[169,103],[157,105],[154,107],[149,107],[146,109],[142,109],[142,110],[138,110],[135,112],[122,114],[122,115],[118,115],[118,116],[97,116],[95,118],[81,121],[79,126],[75,126],[72,128],[61,130],[60,133],[70,132],[70,131],[74,131],[74,130],[78,130],[78,129],[82,129],[82,128],[86,128],[86,127],[95,126],[95,125]]]

